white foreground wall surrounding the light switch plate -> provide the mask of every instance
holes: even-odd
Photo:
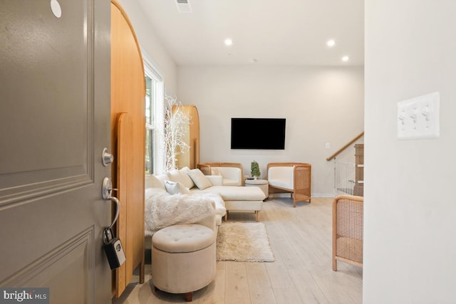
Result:
[[[364,303],[456,303],[456,1],[366,0]],[[396,104],[440,92],[440,137]]]

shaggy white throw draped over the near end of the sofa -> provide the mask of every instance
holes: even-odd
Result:
[[[193,224],[210,215],[215,215],[214,197],[197,194],[170,195],[162,189],[146,189],[146,236],[167,226]]]

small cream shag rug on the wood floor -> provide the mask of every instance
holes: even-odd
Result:
[[[222,222],[217,235],[217,261],[274,262],[264,224]]]

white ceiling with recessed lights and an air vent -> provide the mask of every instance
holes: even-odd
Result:
[[[177,65],[364,63],[363,0],[137,1]]]

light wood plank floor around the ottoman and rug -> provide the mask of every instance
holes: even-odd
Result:
[[[192,303],[362,303],[363,270],[338,262],[332,271],[332,199],[313,198],[293,208],[289,198],[269,199],[261,211],[273,263],[217,262],[217,278],[193,293]],[[229,221],[254,221],[253,213],[230,212]],[[184,295],[155,292],[146,265],[113,304],[185,303]]]

